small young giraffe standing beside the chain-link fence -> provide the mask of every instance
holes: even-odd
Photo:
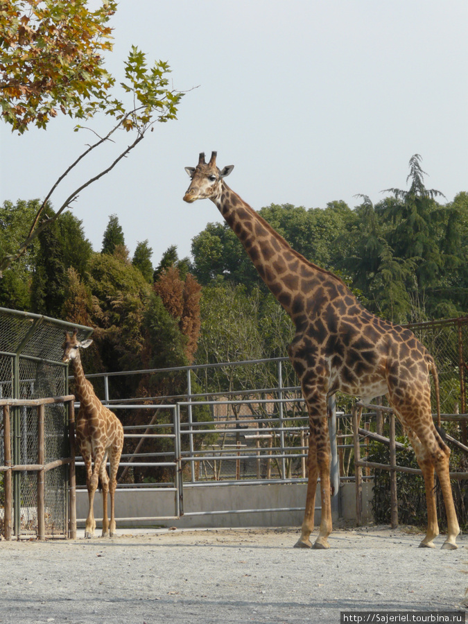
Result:
[[[103,488],[103,534],[107,537],[115,534],[114,497],[116,476],[123,447],[123,427],[114,413],[105,407],[94,394],[92,384],[86,379],[80,358],[80,348],[86,349],[92,340],[83,340],[80,343],[76,338],[65,331],[65,341],[62,345],[62,362],[73,362],[73,372],[76,383],[76,396],[80,401],[78,418],[76,419],[76,440],[78,441],[81,456],[86,467],[86,487],[89,498],[89,511],[86,519],[85,537],[94,537],[96,520],[94,519],[94,494],[101,478]],[[110,478],[107,476],[107,456],[110,461]],[[92,467],[92,462],[94,466]],[[110,523],[107,518],[107,493],[110,492]]]

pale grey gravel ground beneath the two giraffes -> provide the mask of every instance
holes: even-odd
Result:
[[[405,528],[338,529],[329,550],[311,551],[292,548],[298,535],[165,529],[2,541],[0,623],[338,624],[342,611],[465,609],[466,536],[444,551],[417,548],[421,534]]]

